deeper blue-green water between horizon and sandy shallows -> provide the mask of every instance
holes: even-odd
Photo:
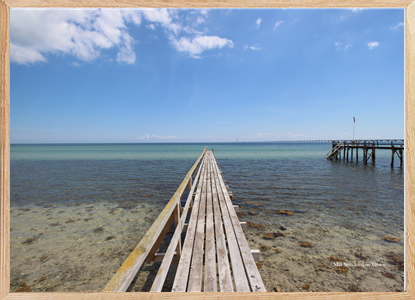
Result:
[[[33,202],[144,201],[164,206],[205,144],[12,145],[12,206]],[[364,203],[402,226],[404,171],[390,151],[376,163],[327,161],[330,143],[210,144],[235,201],[320,210],[326,201]],[[360,154],[360,159],[362,154]],[[320,204],[309,207],[311,203]],[[368,215],[366,215],[369,217]],[[392,221],[392,220],[390,220]],[[321,220],[323,222],[323,220]]]

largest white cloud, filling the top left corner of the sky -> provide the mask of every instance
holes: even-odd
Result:
[[[63,53],[89,62],[102,49],[119,47],[117,60],[134,63],[127,22],[140,24],[139,12],[12,9],[10,60],[28,65],[47,61],[48,54]]]

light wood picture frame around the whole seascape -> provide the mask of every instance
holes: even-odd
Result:
[[[1,299],[205,299],[239,293],[10,293],[10,8],[166,7],[166,8],[405,8],[405,279],[400,293],[250,293],[265,299],[415,299],[415,0],[1,0],[0,2],[0,300]]]

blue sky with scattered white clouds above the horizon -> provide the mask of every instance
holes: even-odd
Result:
[[[403,9],[11,10],[11,143],[404,138]]]

